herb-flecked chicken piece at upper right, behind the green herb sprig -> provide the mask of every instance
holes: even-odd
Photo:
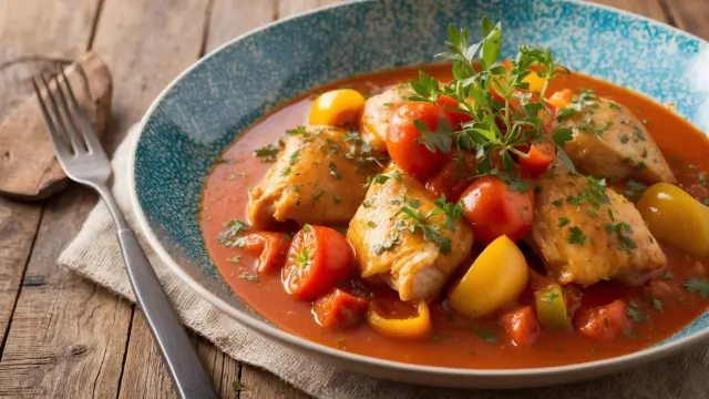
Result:
[[[579,172],[648,184],[676,182],[645,125],[625,106],[585,91],[561,112],[557,127],[571,129],[564,146]]]

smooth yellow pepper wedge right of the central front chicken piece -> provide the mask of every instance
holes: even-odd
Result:
[[[500,236],[477,256],[449,296],[449,305],[462,316],[484,317],[515,300],[528,278],[522,250],[507,236]]]

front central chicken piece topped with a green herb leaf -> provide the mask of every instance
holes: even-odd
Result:
[[[382,176],[389,178],[383,182]],[[421,227],[411,231],[420,224],[401,212],[404,207],[423,221],[435,204],[419,182],[391,165],[372,182],[367,200],[350,222],[347,238],[362,278],[383,279],[399,291],[401,300],[431,300],[469,258],[473,233],[462,219],[452,219],[452,229],[448,229],[445,217],[434,215],[423,221],[424,238]],[[436,236],[449,241],[448,247],[436,243]]]

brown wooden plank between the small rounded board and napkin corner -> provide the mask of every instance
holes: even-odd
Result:
[[[115,398],[131,306],[56,266],[95,200],[73,187],[44,211],[0,360],[0,396]]]

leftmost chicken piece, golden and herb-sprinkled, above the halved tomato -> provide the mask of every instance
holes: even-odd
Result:
[[[346,224],[367,195],[367,176],[381,167],[359,136],[332,126],[290,135],[264,180],[251,190],[256,228],[277,222]]]

